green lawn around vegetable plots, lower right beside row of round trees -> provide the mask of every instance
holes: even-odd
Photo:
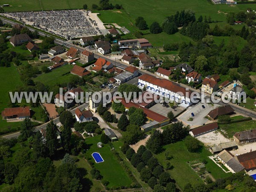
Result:
[[[169,154],[172,155],[172,159],[169,160],[174,168],[169,170],[171,177],[175,179],[177,184],[180,186],[181,189],[184,189],[184,186],[187,183],[191,183],[194,186],[197,183],[203,183],[203,180],[192,170],[192,168],[187,163],[188,161],[192,160],[207,160],[206,169],[208,172],[212,174],[215,179],[221,177],[227,177],[231,174],[227,174],[223,172],[223,170],[218,167],[212,160],[208,158],[212,154],[207,151],[207,149],[203,148],[200,153],[190,153],[183,141],[165,145],[164,152],[157,154],[157,159],[159,162],[166,168],[166,163],[168,162],[165,157],[165,153],[168,151]]]

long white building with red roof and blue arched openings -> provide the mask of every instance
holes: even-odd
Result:
[[[151,93],[156,93],[170,100],[174,100],[182,107],[189,107],[193,105],[190,99],[191,91],[186,91],[185,88],[180,87],[172,81],[166,79],[158,79],[156,77],[144,74],[138,78],[138,87],[145,87]],[[196,96],[195,96],[196,98]]]

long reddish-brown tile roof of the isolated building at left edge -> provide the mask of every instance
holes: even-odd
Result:
[[[8,117],[8,116],[17,116],[17,117],[30,116],[29,107],[5,108],[4,111],[2,111],[2,117]]]

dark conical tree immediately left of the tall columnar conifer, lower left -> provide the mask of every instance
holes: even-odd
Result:
[[[35,158],[45,157],[46,155],[46,145],[44,142],[44,138],[40,131],[37,131],[32,144],[33,153]]]

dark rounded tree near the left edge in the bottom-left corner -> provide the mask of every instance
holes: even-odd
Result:
[[[12,184],[17,174],[18,174],[17,167],[13,163],[6,161],[4,163],[4,170],[3,170],[4,182]]]

